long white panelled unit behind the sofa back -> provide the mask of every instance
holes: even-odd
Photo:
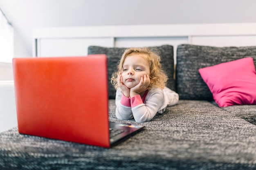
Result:
[[[36,28],[34,57],[87,55],[88,46],[179,44],[256,46],[256,23],[169,24]]]

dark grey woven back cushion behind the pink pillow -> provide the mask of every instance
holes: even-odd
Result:
[[[177,47],[176,91],[180,99],[213,100],[213,95],[198,69],[245,57],[252,57],[256,64],[256,46],[179,45]]]

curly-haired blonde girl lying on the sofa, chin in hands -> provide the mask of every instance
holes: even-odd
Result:
[[[148,48],[130,48],[113,73],[111,83],[117,89],[116,117],[141,123],[162,114],[167,106],[178,103],[179,95],[166,87],[168,77],[160,56]]]

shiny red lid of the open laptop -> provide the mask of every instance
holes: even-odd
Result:
[[[22,134],[110,147],[106,55],[14,58]]]

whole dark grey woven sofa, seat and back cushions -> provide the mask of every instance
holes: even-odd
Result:
[[[168,87],[180,95],[177,105],[142,123],[143,131],[107,149],[21,135],[17,128],[0,133],[0,169],[93,170],[252,170],[256,169],[256,106],[220,108],[198,69],[253,57],[256,46],[210,47],[182,44],[157,47],[168,73]],[[89,54],[108,56],[109,75],[123,49],[90,46]],[[175,71],[174,71],[175,70]],[[175,77],[175,79],[173,79]],[[110,121],[115,90],[109,86]]]

